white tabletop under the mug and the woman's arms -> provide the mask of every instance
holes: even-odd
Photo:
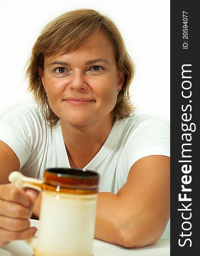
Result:
[[[31,226],[38,227],[39,221],[30,220]],[[32,248],[23,240],[12,241],[0,248],[0,256],[32,256]],[[134,249],[126,249],[98,239],[93,242],[94,256],[170,256],[170,240],[159,239],[155,244]],[[50,255],[49,255],[50,256]]]

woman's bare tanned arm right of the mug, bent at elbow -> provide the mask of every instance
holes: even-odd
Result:
[[[170,158],[149,156],[130,169],[118,191],[99,193],[95,237],[124,247],[156,242],[170,216]]]

